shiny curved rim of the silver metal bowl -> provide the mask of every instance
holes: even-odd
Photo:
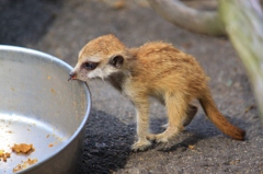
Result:
[[[50,60],[53,62],[56,62],[58,63],[59,66],[61,66],[64,69],[67,69],[69,71],[71,71],[73,68],[68,65],[67,62],[62,61],[61,59],[55,57],[55,56],[52,56],[49,54],[46,54],[46,53],[43,53],[43,51],[39,51],[39,50],[35,50],[35,49],[32,49],[32,48],[25,48],[25,47],[20,47],[20,46],[10,46],[10,45],[0,45],[0,51],[15,51],[15,53],[25,53],[25,54],[31,54],[31,55],[36,55],[36,57],[41,57],[41,58],[44,58],[44,59],[47,59],[47,60]],[[66,79],[67,80],[67,79]],[[26,173],[26,172],[30,172],[34,169],[36,169],[37,166],[48,162],[49,160],[52,160],[53,158],[55,158],[57,154],[61,153],[67,147],[70,146],[70,143],[78,137],[78,135],[81,132],[81,130],[84,128],[87,121],[88,121],[88,117],[90,115],[90,112],[91,112],[91,104],[92,104],[92,101],[91,101],[91,92],[90,92],[90,89],[89,89],[89,85],[87,84],[87,82],[82,82],[84,85],[84,93],[87,94],[87,111],[85,111],[85,114],[84,114],[84,117],[81,121],[81,124],[79,125],[78,129],[73,132],[73,135],[66,141],[67,143],[65,143],[64,146],[61,146],[60,148],[58,148],[50,156],[46,158],[45,160],[41,161],[41,162],[37,162],[36,164],[33,164],[31,166],[28,166],[27,169],[25,170],[22,170],[20,172],[16,172],[18,174],[20,173]]]

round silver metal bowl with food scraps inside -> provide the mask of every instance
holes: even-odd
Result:
[[[81,162],[83,128],[91,109],[87,83],[68,82],[72,68],[32,49],[0,46],[0,150],[33,144],[30,154],[11,152],[0,173],[72,174]],[[28,165],[31,159],[37,161]]]

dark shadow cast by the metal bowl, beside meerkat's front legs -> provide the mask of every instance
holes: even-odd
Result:
[[[123,169],[134,142],[135,125],[92,109],[85,129],[83,171],[112,173]]]

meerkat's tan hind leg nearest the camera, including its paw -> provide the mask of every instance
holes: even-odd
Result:
[[[188,104],[181,95],[167,95],[165,107],[169,118],[167,130],[159,135],[149,136],[149,139],[155,139],[156,142],[168,142],[169,139],[183,130]]]

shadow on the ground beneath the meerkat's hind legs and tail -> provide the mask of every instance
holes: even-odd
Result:
[[[227,119],[240,127],[243,128],[248,126],[242,119],[231,118],[227,116]],[[161,125],[167,123],[167,118],[153,118],[151,120],[151,130],[155,134],[160,134],[164,131],[164,128]],[[162,152],[182,152],[185,151],[191,146],[195,146],[198,141],[210,139],[221,135],[222,137],[228,137],[224,135],[216,126],[207,118],[204,114],[197,114],[192,123],[185,127],[184,131],[180,132],[178,137],[173,138],[170,142],[163,144],[153,144],[152,149],[157,149]],[[228,137],[229,138],[229,137]]]

